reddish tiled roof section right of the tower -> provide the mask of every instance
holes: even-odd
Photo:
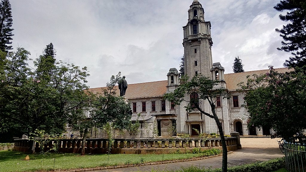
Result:
[[[279,73],[285,73],[290,71],[288,68],[276,68],[275,71]],[[253,74],[263,74],[270,72],[269,69],[265,70],[253,70],[253,71],[247,71],[247,72],[241,72],[241,73],[228,73],[224,74],[224,80],[226,81],[226,88],[229,89],[230,91],[234,91],[239,89],[240,87],[237,85],[240,82],[247,82],[247,76],[250,75],[252,76]]]

